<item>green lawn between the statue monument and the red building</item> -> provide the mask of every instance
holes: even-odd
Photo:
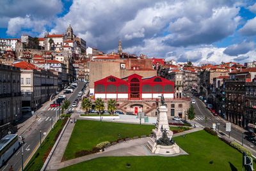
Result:
[[[118,138],[149,135],[154,127],[154,125],[77,120],[63,155],[63,160],[75,158],[77,151],[92,150],[92,147],[100,142],[113,142]],[[119,137],[118,134],[120,134]]]

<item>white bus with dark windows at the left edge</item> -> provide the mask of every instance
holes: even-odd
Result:
[[[19,149],[20,143],[17,134],[6,135],[0,140],[0,167]]]

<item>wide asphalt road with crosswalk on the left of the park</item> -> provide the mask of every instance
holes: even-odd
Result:
[[[84,83],[78,83],[72,94],[66,94],[67,99],[70,101],[70,107],[83,87]],[[71,108],[71,110],[74,110],[74,108]],[[40,113],[41,114],[38,115],[36,121],[33,122],[24,133],[19,134],[18,131],[18,135],[22,135],[25,138],[23,145],[24,163],[28,162],[29,156],[35,151],[36,146],[40,144],[40,131],[42,138],[44,138],[44,133],[47,133],[47,131],[51,129],[52,124],[56,121],[56,116],[61,113],[61,108],[49,107],[46,110],[42,110]],[[9,170],[11,166],[13,167],[13,170],[20,170],[22,165],[21,150],[22,148],[20,147],[0,170]]]

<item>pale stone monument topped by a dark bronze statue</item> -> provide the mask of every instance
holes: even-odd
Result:
[[[176,154],[180,148],[172,140],[173,132],[170,131],[167,119],[167,107],[164,104],[163,94],[161,96],[161,106],[158,108],[156,128],[153,131],[153,137],[148,140],[148,148],[155,154]]]

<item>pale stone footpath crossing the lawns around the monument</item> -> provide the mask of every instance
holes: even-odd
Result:
[[[74,128],[74,124],[69,123],[66,128],[67,133],[65,131],[65,133],[63,134],[63,137],[61,137],[61,140],[60,140],[61,144],[58,144],[56,151],[52,155],[52,160],[50,161],[46,170],[58,170],[60,168],[68,167],[76,163],[81,163],[83,161],[92,160],[93,158],[99,158],[103,156],[159,156],[157,154],[152,154],[147,148],[146,144],[147,144],[147,141],[149,140],[149,137],[147,137],[147,138],[138,138],[134,140],[129,140],[126,142],[122,142],[120,144],[112,145],[109,148],[107,148],[104,152],[98,152],[95,154],[90,154],[80,158],[75,158],[72,160],[61,162],[62,156],[65,152],[65,148],[67,147],[67,143],[69,139],[68,135],[69,136],[71,135],[73,128]],[[203,128],[198,126],[191,130],[177,133],[173,135],[173,137],[185,135],[187,133],[192,133],[200,130],[203,130]],[[180,149],[179,154],[173,154],[168,156],[177,156],[180,154],[188,154],[188,153]]]

